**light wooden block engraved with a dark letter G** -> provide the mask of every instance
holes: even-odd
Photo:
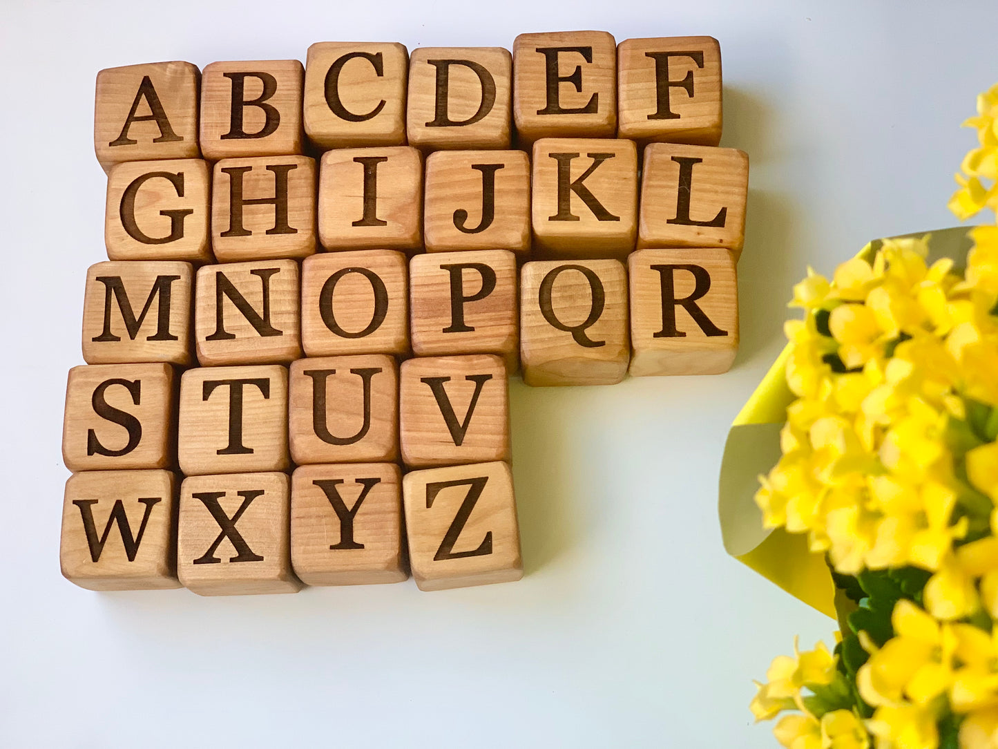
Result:
[[[208,163],[200,159],[112,167],[104,214],[108,258],[211,263],[209,207]]]

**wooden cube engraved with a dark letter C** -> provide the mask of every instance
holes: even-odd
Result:
[[[318,148],[405,145],[409,53],[402,44],[316,42],[305,61],[304,121]]]

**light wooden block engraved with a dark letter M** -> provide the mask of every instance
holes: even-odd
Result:
[[[83,359],[89,365],[190,365],[190,263],[98,263],[87,270]]]

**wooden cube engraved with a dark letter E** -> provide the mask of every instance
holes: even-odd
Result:
[[[521,143],[617,135],[617,43],[605,31],[520,34],[513,118]]]

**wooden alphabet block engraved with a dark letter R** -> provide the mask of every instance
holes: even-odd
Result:
[[[739,351],[739,285],[728,250],[639,250],[628,258],[631,375],[719,375]]]

